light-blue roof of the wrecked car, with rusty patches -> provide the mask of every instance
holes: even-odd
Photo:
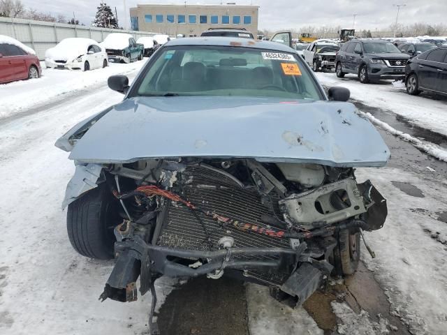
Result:
[[[165,44],[173,47],[177,45],[215,45],[226,47],[253,47],[255,49],[268,49],[283,52],[295,52],[288,45],[269,40],[252,40],[251,38],[226,37],[226,36],[204,36],[193,38],[177,38]]]

